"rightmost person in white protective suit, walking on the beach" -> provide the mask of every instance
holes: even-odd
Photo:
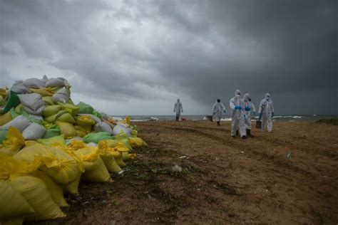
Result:
[[[274,116],[273,103],[270,99],[270,94],[266,93],[265,98],[260,101],[260,119],[262,119],[262,130],[267,125],[267,131],[272,132],[272,117]]]

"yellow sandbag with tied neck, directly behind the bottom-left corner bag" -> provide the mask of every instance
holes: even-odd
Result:
[[[34,210],[34,214],[26,215],[25,220],[39,221],[66,216],[51,198],[46,184],[41,179],[31,176],[29,168],[25,162],[0,155],[0,179],[19,192]],[[25,203],[11,202],[11,204],[19,207]]]

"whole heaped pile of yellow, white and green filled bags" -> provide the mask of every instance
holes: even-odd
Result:
[[[114,121],[74,105],[71,85],[46,76],[0,88],[0,224],[66,216],[63,194],[83,182],[111,182],[146,143],[129,117]]]

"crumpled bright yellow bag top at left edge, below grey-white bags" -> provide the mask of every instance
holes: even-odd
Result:
[[[24,147],[25,140],[21,132],[15,127],[10,126],[9,131],[6,133],[7,140],[0,145],[0,153],[6,155],[15,155],[19,152],[21,147]]]

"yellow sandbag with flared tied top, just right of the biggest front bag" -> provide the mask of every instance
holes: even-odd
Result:
[[[81,180],[86,182],[110,182],[112,181],[109,172],[99,157],[97,147],[86,147],[79,149],[75,154],[82,159],[85,172],[82,174]]]

